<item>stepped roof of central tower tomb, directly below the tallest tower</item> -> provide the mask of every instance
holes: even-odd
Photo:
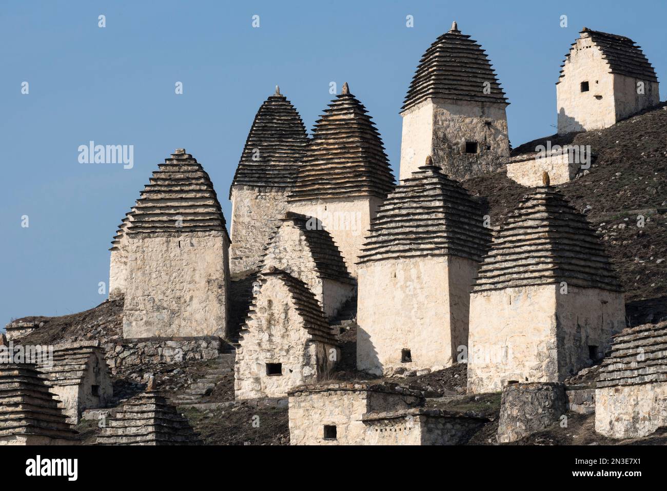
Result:
[[[380,206],[359,264],[450,254],[482,260],[491,233],[484,227],[480,204],[430,157],[426,162]]]

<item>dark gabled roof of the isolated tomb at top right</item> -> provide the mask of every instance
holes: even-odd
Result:
[[[584,27],[580,31],[580,35],[581,37],[590,37],[592,42],[600,48],[602,57],[609,65],[610,73],[618,73],[619,75],[636,77],[648,81],[658,81],[656,71],[653,65],[648,62],[646,55],[641,50],[641,46],[636,45],[629,37],[603,33],[602,31],[593,31],[592,29],[588,29],[588,27]],[[576,41],[572,43],[572,49],[576,45]],[[570,52],[572,49],[570,49]],[[560,65],[560,76],[556,85],[564,77],[563,67],[568,59],[570,59],[570,53],[565,55],[563,64]]]

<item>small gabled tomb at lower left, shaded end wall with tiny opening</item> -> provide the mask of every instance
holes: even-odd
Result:
[[[81,412],[103,408],[111,402],[113,386],[104,350],[99,343],[60,344],[53,348],[53,360],[37,365],[51,392],[61,400],[71,424]]]

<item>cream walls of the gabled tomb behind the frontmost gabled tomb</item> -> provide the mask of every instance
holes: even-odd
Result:
[[[332,318],[345,302],[354,296],[354,285],[321,278],[309,253],[307,242],[299,227],[285,222],[274,243],[265,250],[263,267],[283,270],[305,283],[322,305],[324,314]]]

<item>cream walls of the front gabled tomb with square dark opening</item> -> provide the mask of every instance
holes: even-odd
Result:
[[[253,310],[236,350],[236,399],[286,397],[289,389],[316,382],[333,370],[340,348],[312,339],[280,278],[266,279]],[[266,364],[275,363],[282,365],[281,375],[268,375]]]

